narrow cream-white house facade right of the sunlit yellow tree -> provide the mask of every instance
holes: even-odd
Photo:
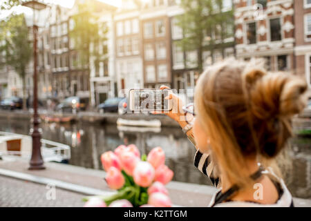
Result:
[[[133,1],[122,1],[122,7],[114,15],[115,78],[119,96],[126,93],[124,89],[144,85],[139,15],[139,6]]]

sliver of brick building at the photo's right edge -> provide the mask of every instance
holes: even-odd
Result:
[[[311,1],[294,1],[294,10],[296,74],[305,76],[311,87]]]

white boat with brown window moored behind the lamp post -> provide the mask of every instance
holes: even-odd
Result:
[[[30,159],[32,137],[0,131],[0,157],[2,160]],[[44,162],[68,162],[70,146],[41,139],[41,154]]]

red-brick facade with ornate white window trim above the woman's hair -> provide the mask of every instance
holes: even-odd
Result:
[[[294,1],[234,3],[236,57],[263,57],[268,70],[294,72]]]

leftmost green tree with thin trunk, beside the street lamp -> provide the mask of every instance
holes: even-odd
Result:
[[[22,79],[23,87],[23,109],[26,109],[26,67],[32,59],[32,46],[28,41],[28,27],[25,17],[21,15],[11,15],[6,21],[1,21],[0,39],[5,44],[0,48],[5,51],[5,65],[11,66]]]

